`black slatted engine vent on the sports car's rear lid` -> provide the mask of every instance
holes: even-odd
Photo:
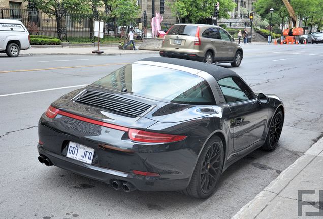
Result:
[[[127,117],[137,117],[151,107],[151,105],[132,99],[93,90],[86,91],[75,101]]]

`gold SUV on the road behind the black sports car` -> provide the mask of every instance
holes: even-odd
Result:
[[[231,35],[219,26],[175,24],[167,32],[160,56],[183,58],[206,63],[230,62],[239,67],[243,50]]]

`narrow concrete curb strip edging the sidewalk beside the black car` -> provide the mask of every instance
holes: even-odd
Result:
[[[281,172],[263,191],[243,206],[231,219],[256,218],[293,179],[323,152],[323,138],[309,148],[292,165]]]

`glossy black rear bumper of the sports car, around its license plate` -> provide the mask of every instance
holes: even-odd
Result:
[[[119,142],[116,138],[118,130],[98,128],[101,135],[90,136],[86,132],[85,122],[73,121],[73,133],[60,117],[54,121],[41,118],[38,126],[40,142],[37,146],[39,155],[49,158],[53,165],[75,172],[79,175],[111,184],[118,179],[133,184],[143,191],[176,191],[185,189],[198,159],[198,153],[203,147],[206,137],[187,137],[183,141],[171,144],[134,144],[129,141]],[[66,128],[64,128],[64,126]],[[57,129],[59,128],[59,129]],[[110,131],[107,134],[107,131]],[[122,133],[121,133],[122,134]],[[111,136],[111,139],[109,138]],[[115,141],[113,141],[113,139]],[[116,142],[127,145],[132,152],[101,148],[103,142],[113,146]],[[83,163],[66,157],[67,145],[76,142],[93,148],[92,164]],[[108,142],[111,142],[108,143]],[[143,176],[133,173],[133,170],[158,173],[160,176]]]

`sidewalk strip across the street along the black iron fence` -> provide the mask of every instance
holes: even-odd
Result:
[[[138,45],[139,46],[139,45]],[[137,46],[137,47],[138,47]],[[99,55],[92,53],[97,47],[60,47],[60,48],[36,48],[31,47],[27,50],[21,50],[20,55]],[[151,50],[120,50],[118,46],[100,47],[103,50],[102,55],[126,55],[126,54],[159,54],[159,51]]]

